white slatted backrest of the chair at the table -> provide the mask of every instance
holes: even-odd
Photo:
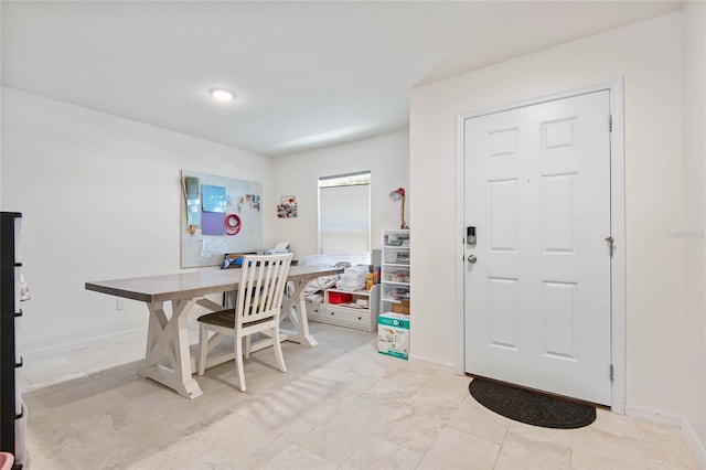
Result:
[[[243,258],[235,316],[237,324],[279,318],[292,256],[288,253]]]

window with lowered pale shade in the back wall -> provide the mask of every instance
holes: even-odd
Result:
[[[371,172],[319,178],[319,253],[371,250]]]

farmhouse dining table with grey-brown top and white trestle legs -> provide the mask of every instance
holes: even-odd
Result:
[[[206,296],[237,289],[240,269],[214,269],[161,276],[133,277],[86,282],[86,289],[109,296],[145,302],[149,310],[147,348],[139,375],[173,388],[186,398],[202,395],[193,378],[195,363],[191,359],[188,317],[195,306],[210,311],[223,310],[223,305]],[[288,281],[293,282],[293,293],[282,302],[282,318],[288,318],[295,331],[280,329],[282,341],[315,346],[317,340],[309,333],[304,289],[312,279],[343,273],[342,268],[291,266]],[[171,302],[171,314],[164,303]],[[269,342],[271,344],[271,340]],[[253,346],[253,350],[267,346]]]

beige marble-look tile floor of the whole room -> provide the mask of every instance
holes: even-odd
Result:
[[[136,374],[145,337],[25,361],[29,469],[697,469],[681,430],[599,410],[586,428],[510,421],[470,378],[378,354],[375,335],[312,323],[197,377],[186,400]],[[196,338],[196,337],[192,337]]]

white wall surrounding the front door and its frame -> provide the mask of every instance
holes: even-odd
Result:
[[[686,414],[684,391],[699,381],[682,370],[684,250],[667,237],[683,223],[681,31],[676,12],[413,92],[413,356],[454,361],[458,116],[624,77],[627,400]]]

